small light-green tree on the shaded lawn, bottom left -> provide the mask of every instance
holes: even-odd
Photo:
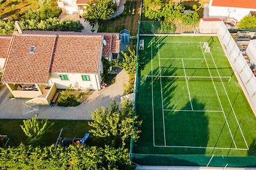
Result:
[[[48,120],[37,120],[36,118],[37,115],[31,119],[23,120],[24,125],[20,125],[22,131],[28,137],[28,144],[34,144],[40,141],[49,128]]]

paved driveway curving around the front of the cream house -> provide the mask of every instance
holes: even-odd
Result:
[[[121,71],[116,76],[113,85],[93,94],[77,107],[38,106],[38,118],[58,119],[58,120],[92,120],[92,111],[104,106],[108,108],[111,101],[120,103],[123,96],[123,83],[127,82],[128,75]],[[33,117],[34,113],[23,113],[22,103],[28,99],[10,99],[10,92],[6,87],[0,91],[0,118],[26,119]]]

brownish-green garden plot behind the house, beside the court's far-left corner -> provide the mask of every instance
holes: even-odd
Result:
[[[141,1],[126,1],[124,12],[118,17],[107,20],[98,32],[120,32],[128,29],[131,35],[136,35],[140,20],[140,5]]]

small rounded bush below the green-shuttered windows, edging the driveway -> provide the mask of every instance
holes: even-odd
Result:
[[[71,94],[71,89],[68,87],[66,90],[60,92],[57,101],[58,106],[78,106],[80,103],[77,101],[76,96]]]

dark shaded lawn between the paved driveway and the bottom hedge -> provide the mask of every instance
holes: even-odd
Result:
[[[61,134],[62,138],[83,138],[84,134],[90,130],[87,120],[49,120],[49,124],[52,123],[54,123],[54,125],[52,125],[51,131],[45,134],[44,138],[40,143],[38,143],[38,145],[47,146],[55,144],[61,128],[64,128]],[[23,125],[22,120],[0,119],[0,134],[10,137],[14,146],[18,146],[20,143],[25,143],[26,136],[20,128],[20,125]],[[87,144],[93,146],[104,146],[103,141],[92,138],[92,136],[89,137]]]

